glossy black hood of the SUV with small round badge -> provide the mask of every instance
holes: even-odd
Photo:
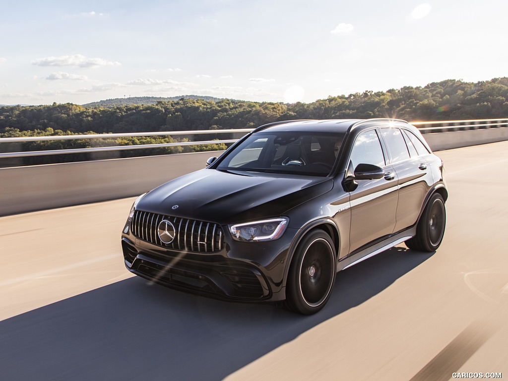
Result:
[[[283,215],[332,186],[329,177],[203,169],[151,190],[137,209],[225,225]]]

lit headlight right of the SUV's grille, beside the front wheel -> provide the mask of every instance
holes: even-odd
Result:
[[[270,241],[280,238],[288,226],[288,222],[288,217],[264,219],[230,225],[229,230],[237,241]]]

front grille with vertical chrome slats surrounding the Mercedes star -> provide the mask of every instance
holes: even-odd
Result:
[[[163,220],[170,221],[175,227],[175,238],[171,243],[164,243],[158,236],[158,225]],[[141,210],[134,213],[131,230],[144,241],[182,251],[220,251],[225,242],[223,230],[217,224]]]

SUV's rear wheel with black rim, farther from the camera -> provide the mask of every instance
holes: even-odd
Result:
[[[418,222],[416,236],[405,242],[406,246],[418,251],[435,251],[442,242],[446,226],[444,200],[434,193]]]

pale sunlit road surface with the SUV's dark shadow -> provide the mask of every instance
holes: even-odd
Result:
[[[132,277],[133,199],[0,217],[0,379],[508,378],[508,142],[441,151],[441,247],[400,245],[338,274],[300,316]]]

